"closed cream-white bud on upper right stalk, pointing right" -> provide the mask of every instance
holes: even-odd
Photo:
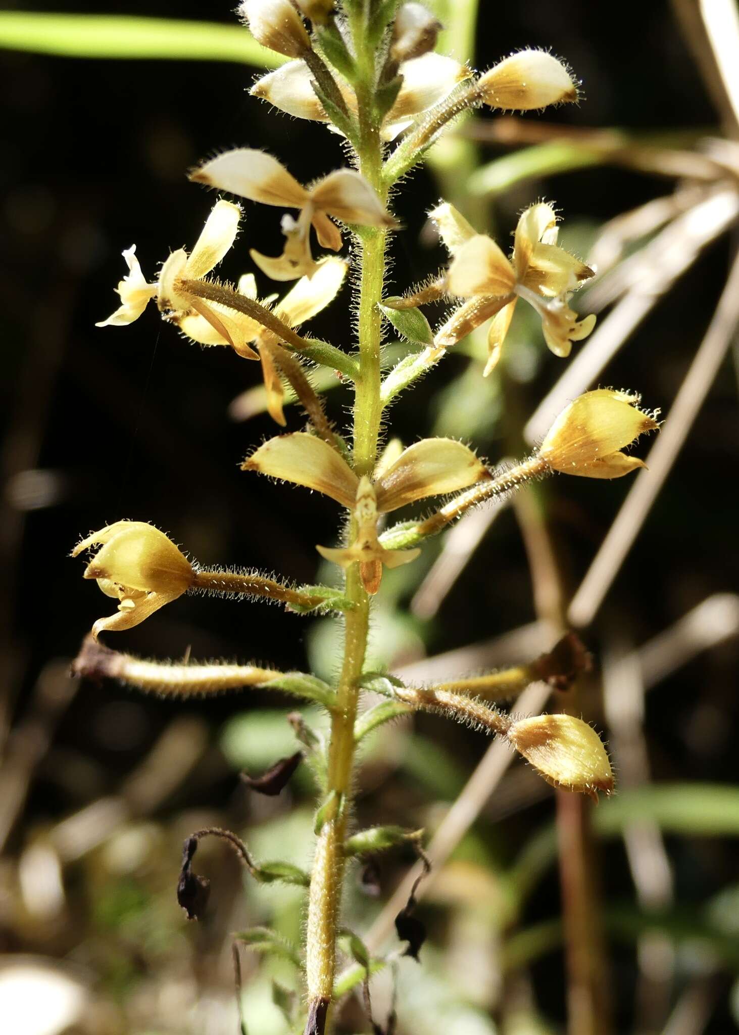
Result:
[[[485,105],[503,111],[529,111],[578,99],[578,84],[566,66],[546,51],[520,51],[478,80]]]

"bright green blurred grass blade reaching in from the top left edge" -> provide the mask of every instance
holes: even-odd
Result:
[[[236,61],[256,68],[285,62],[242,26],[117,14],[0,11],[0,48],[76,58]]]

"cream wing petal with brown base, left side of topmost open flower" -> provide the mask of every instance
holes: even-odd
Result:
[[[204,162],[189,178],[263,205],[302,208],[308,200],[307,190],[285,166],[271,154],[248,147],[225,151]]]

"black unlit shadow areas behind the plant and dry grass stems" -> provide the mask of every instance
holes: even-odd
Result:
[[[77,10],[113,12],[108,5],[78,5]],[[637,130],[715,131],[716,113],[669,5],[625,2],[605,10],[577,0],[483,2],[476,64],[484,68],[524,46],[551,48],[584,81],[585,100],[548,118]],[[120,12],[232,19],[228,5],[185,0],[129,3]],[[274,433],[266,416],[241,424],[227,417],[232,398],[257,383],[257,364],[225,349],[201,350],[180,339],[157,322],[153,308],[129,328],[97,329],[94,323],[116,307],[113,288],[122,275],[123,247],[136,242],[144,273],[152,279],[169,249],[195,242],[212,202],[184,176],[200,158],[230,146],[260,146],[298,179],[309,180],[338,165],[342,151],[320,126],[274,114],[250,98],[253,71],[235,64],[3,53],[0,67],[5,137],[0,164],[5,433],[0,618],[7,638],[6,712],[19,723],[45,664],[73,656],[83,634],[112,603],[82,581],[81,562],[67,556],[90,529],[121,518],[151,521],[204,564],[316,579],[313,546],[334,534],[332,504],[238,470],[253,444]],[[489,148],[485,156],[496,153],[502,151]],[[507,238],[520,208],[539,196],[556,199],[565,225],[572,219],[597,226],[669,186],[657,177],[609,167],[528,182],[496,201],[499,240]],[[432,176],[418,172],[398,198],[407,232],[394,245],[390,291],[405,290],[444,259],[421,235],[423,212],[437,197]],[[278,220],[278,210],[246,203],[241,250],[237,245],[228,257],[225,276],[253,268],[248,246],[276,253]],[[649,405],[669,413],[720,293],[728,255],[726,239],[711,247],[621,351],[607,383],[637,387]],[[267,294],[270,286],[258,279]],[[347,345],[348,290],[313,327]],[[521,411],[524,416],[531,412],[561,373],[560,361],[541,348],[533,381],[510,388],[516,412],[503,406],[499,419],[481,422],[485,428],[478,444],[491,460],[515,442]],[[392,431],[406,441],[427,433],[441,389],[454,384],[466,363],[451,356],[440,365],[412,403],[393,411]],[[504,380],[504,397],[505,389]],[[346,392],[331,395],[329,409],[336,419],[347,404]],[[492,394],[494,405],[497,412]],[[291,412],[289,427],[299,426]],[[727,362],[604,609],[612,627],[615,623],[635,643],[710,594],[736,589],[736,376]],[[40,473],[23,473],[28,471]],[[552,527],[572,587],[625,495],[624,482],[561,478],[550,486]],[[408,593],[401,598],[402,609],[407,598]],[[414,642],[422,641],[435,654],[530,621],[532,609],[520,533],[506,514],[437,618],[411,623]],[[198,658],[305,668],[307,627],[304,620],[266,605],[183,597],[120,641],[109,640],[145,656],[177,657],[189,647]],[[585,635],[596,655],[600,632],[596,626]],[[646,730],[655,779],[735,778],[735,660],[736,645],[725,645],[701,655],[650,696]],[[223,722],[241,712],[244,702],[226,698],[207,708],[173,705],[113,686],[84,685],[60,719],[53,750],[59,759],[73,755],[94,763],[87,785],[92,800],[115,790],[171,720],[173,709],[202,716],[215,743]],[[431,720],[428,736],[442,743],[446,738],[463,771],[484,747],[474,735],[447,732]],[[230,801],[233,775],[226,766],[214,773],[181,789],[162,820],[175,807],[218,809]],[[10,855],[21,851],[29,827],[55,821],[83,798],[79,788],[65,789],[49,766],[42,767],[8,842]],[[412,804],[413,795],[411,811]],[[551,803],[515,820],[513,839],[524,840],[546,810]],[[736,845],[687,841],[673,849],[681,899],[703,901],[736,879]],[[610,891],[630,894],[620,851],[607,860],[604,880]],[[549,894],[556,895],[554,879]],[[3,944],[43,951],[42,944],[11,925],[0,929]],[[52,954],[63,954],[64,948]],[[563,1010],[560,974],[557,967],[537,976],[542,1005],[553,1016]],[[617,980],[618,996],[633,980],[630,956],[620,964]],[[719,1006],[707,1030],[725,1032],[731,1024]]]

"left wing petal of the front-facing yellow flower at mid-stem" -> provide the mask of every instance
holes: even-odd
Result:
[[[345,507],[352,508],[359,479],[344,457],[323,439],[306,432],[269,439],[243,462],[242,471],[292,481],[324,493]]]

